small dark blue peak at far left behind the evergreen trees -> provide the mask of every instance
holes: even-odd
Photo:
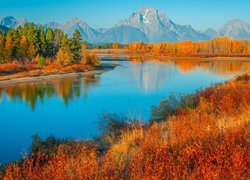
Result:
[[[24,26],[26,22],[27,20],[24,18],[16,19],[12,16],[0,18],[0,25],[8,28],[16,28],[18,26]]]

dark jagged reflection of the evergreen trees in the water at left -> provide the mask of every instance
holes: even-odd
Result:
[[[99,79],[99,76],[91,75],[84,76],[80,79],[69,78],[2,87],[0,88],[0,100],[3,94],[6,94],[9,100],[24,101],[31,107],[32,111],[34,111],[39,100],[43,102],[45,98],[60,97],[67,106],[71,100],[79,98],[81,93],[87,98],[87,92],[98,84]]]

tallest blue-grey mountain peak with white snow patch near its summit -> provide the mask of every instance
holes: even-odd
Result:
[[[178,25],[153,7],[143,7],[130,18],[122,20],[116,26],[128,25],[140,29],[152,43],[163,41],[199,41],[208,39],[205,34],[195,31],[190,25]]]

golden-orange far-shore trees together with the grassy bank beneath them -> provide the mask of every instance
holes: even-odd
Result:
[[[91,49],[91,48],[89,48]],[[92,49],[91,52],[106,54],[128,54],[169,60],[201,59],[201,60],[250,60],[250,41],[232,40],[228,37],[218,37],[212,40],[192,42],[163,42],[144,44],[133,42],[128,45],[113,43],[108,46]]]

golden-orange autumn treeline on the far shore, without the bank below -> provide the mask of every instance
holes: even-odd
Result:
[[[147,52],[155,54],[187,55],[187,56],[248,56],[250,55],[249,40],[231,40],[228,37],[218,37],[201,42],[163,42],[159,44],[144,44],[134,42],[127,47],[131,52]]]

